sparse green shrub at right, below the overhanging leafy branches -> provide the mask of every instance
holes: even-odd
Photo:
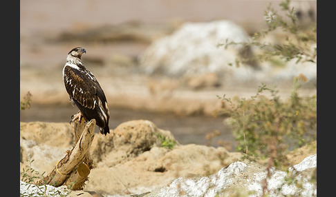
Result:
[[[290,98],[283,100],[275,88],[265,84],[250,99],[221,98],[229,105],[223,105],[219,113],[227,114],[225,123],[232,127],[238,143],[236,149],[247,156],[273,158],[273,165],[279,166],[285,160],[286,152],[301,147],[316,139],[317,96],[299,96],[304,76],[295,78]],[[270,92],[268,98],[264,92]]]

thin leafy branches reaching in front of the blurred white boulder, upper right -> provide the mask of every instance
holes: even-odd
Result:
[[[258,54],[237,58],[230,65],[239,67],[241,64],[252,61],[270,61],[277,62],[273,65],[283,65],[281,61],[292,59],[295,59],[296,63],[305,61],[316,63],[317,23],[312,24],[308,30],[303,30],[297,21],[295,8],[290,7],[290,1],[281,1],[279,5],[283,11],[282,15],[278,14],[270,4],[264,14],[268,28],[261,32],[255,32],[250,41],[236,43],[227,39],[225,43],[218,43],[218,47],[224,46],[225,49],[230,45],[243,45],[245,48],[254,47],[259,50]],[[267,34],[279,29],[286,34],[285,37],[277,38],[279,39],[277,43],[263,41]]]

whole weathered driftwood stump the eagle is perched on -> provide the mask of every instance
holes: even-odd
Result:
[[[92,169],[93,160],[89,149],[95,136],[95,119],[85,122],[84,117],[81,121],[73,121],[75,147],[66,152],[66,156],[59,160],[53,171],[37,182],[39,185],[66,185],[72,190],[82,189]]]

